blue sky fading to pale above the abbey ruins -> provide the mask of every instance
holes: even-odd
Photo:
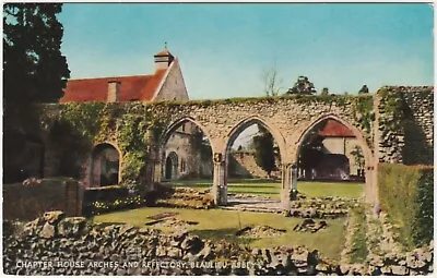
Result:
[[[262,96],[276,63],[284,90],[433,85],[433,8],[395,4],[67,3],[62,52],[71,77],[151,74],[168,41],[191,99]]]

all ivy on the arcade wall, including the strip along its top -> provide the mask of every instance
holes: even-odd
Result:
[[[373,96],[280,96],[261,98],[232,98],[217,100],[156,101],[153,105],[143,102],[84,102],[43,106],[47,109],[45,124],[70,126],[75,134],[74,140],[64,142],[70,152],[75,156],[86,157],[93,146],[103,142],[115,142],[121,152],[121,180],[125,185],[134,189],[141,183],[140,177],[144,171],[150,155],[156,150],[158,143],[164,138],[170,119],[184,109],[198,109],[201,107],[214,107],[221,109],[221,105],[232,104],[260,104],[273,105],[283,99],[291,99],[297,104],[323,104],[335,102],[340,107],[351,107],[356,112],[352,113],[361,129],[371,136]],[[58,111],[58,112],[56,112]],[[44,117],[43,117],[44,118]],[[47,128],[46,128],[47,129]],[[68,133],[68,132],[67,132]],[[62,136],[69,136],[66,132]],[[367,140],[367,138],[366,138]],[[61,141],[60,141],[61,142]],[[61,144],[61,145],[62,145]],[[79,152],[81,150],[81,152]],[[82,161],[84,158],[82,159]],[[79,171],[79,170],[78,170]],[[74,174],[78,177],[79,174]]]

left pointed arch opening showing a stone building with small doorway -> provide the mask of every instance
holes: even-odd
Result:
[[[175,121],[161,142],[161,180],[175,188],[208,189],[212,184],[211,144],[190,118]]]

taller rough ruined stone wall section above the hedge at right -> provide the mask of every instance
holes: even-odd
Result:
[[[433,165],[433,87],[382,87],[376,95],[379,162]]]

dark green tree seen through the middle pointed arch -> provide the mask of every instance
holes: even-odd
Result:
[[[260,134],[253,137],[255,161],[270,177],[271,172],[276,169],[273,136],[262,125],[258,124],[258,129]]]

